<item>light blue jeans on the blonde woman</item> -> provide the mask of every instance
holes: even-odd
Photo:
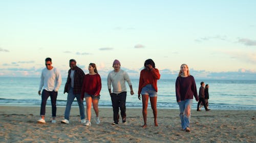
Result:
[[[180,107],[180,120],[181,120],[181,127],[183,130],[186,127],[189,127],[190,123],[190,116],[191,116],[191,106],[193,103],[193,99],[186,99],[184,101],[178,102]]]

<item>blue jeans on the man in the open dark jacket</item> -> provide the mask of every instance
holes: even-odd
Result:
[[[67,98],[67,105],[65,109],[65,115],[64,118],[69,120],[69,115],[70,115],[70,110],[71,110],[71,105],[76,98],[78,106],[79,106],[79,111],[80,111],[80,118],[81,120],[85,118],[84,116],[84,106],[83,102],[81,101],[81,94],[74,94],[73,93],[73,88],[70,88],[69,93],[68,93],[68,98]]]

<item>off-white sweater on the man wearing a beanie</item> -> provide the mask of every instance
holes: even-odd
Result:
[[[111,89],[111,83],[112,83],[112,87],[113,87],[112,92],[115,94],[126,92],[125,81],[129,84],[129,86],[132,85],[129,75],[121,69],[118,72],[115,72],[114,70],[111,71],[108,75],[107,80],[108,80],[108,89]]]

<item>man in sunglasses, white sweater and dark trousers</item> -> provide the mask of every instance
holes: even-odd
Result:
[[[46,58],[46,68],[42,70],[41,81],[39,85],[38,95],[41,95],[41,109],[38,123],[46,123],[45,113],[46,113],[46,102],[48,97],[51,98],[52,103],[52,123],[56,123],[56,100],[58,95],[58,90],[61,84],[61,75],[59,70],[52,66],[52,59]],[[42,94],[41,94],[42,90]]]

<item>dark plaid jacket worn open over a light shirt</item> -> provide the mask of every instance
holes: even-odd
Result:
[[[69,93],[69,90],[71,88],[71,78],[70,78],[70,73],[71,73],[71,69],[69,70],[69,75],[67,78],[67,82],[65,84],[65,89],[64,89],[64,93]],[[83,82],[83,77],[84,77],[84,72],[82,71],[82,69],[80,69],[79,67],[75,67],[75,72],[74,72],[74,90],[73,93],[74,94],[81,94],[81,88],[82,88],[82,82]]]

